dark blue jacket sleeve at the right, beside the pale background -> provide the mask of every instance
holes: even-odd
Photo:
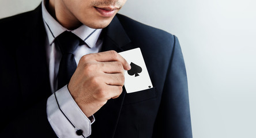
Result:
[[[153,136],[192,137],[186,68],[176,36]]]

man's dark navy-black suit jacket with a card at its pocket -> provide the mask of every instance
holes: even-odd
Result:
[[[46,115],[51,95],[41,5],[0,20],[1,137],[57,137]],[[192,137],[187,78],[178,39],[117,14],[103,29],[102,51],[141,48],[153,84],[110,99],[94,137]]]

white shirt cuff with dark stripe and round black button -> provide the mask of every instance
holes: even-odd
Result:
[[[56,97],[55,97],[56,95]],[[47,99],[47,117],[58,137],[88,137],[94,116],[88,117],[71,97],[67,85]]]

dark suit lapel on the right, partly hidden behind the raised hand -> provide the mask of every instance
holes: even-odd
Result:
[[[111,24],[103,30],[103,36],[101,51],[122,52],[122,47],[130,45],[130,39],[117,17],[114,17]],[[123,92],[118,98],[108,100],[107,104],[94,114],[96,121],[92,124],[91,138],[114,137],[125,94],[123,87]]]

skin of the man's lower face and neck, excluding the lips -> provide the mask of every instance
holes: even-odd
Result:
[[[105,28],[126,0],[50,0],[49,9],[53,17],[67,29],[76,29],[81,24],[90,28]],[[103,17],[98,8],[116,9],[111,17]]]

